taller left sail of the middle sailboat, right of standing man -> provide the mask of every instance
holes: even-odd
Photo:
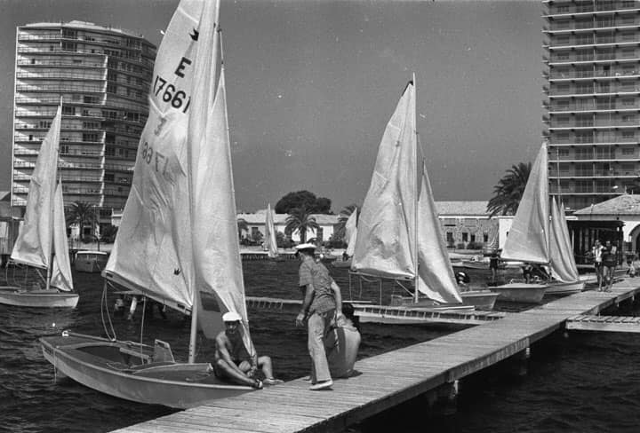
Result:
[[[409,83],[384,131],[358,222],[351,269],[413,279],[416,169],[415,91]]]

